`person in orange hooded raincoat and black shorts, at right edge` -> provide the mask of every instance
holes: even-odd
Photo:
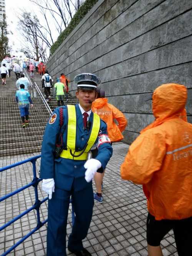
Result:
[[[161,240],[174,230],[179,256],[191,254],[192,125],[184,85],[169,83],[152,95],[155,121],[141,131],[121,165],[121,177],[142,184],[147,197],[149,256],[162,256]]]

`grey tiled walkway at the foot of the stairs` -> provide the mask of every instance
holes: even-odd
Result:
[[[127,153],[128,145],[114,143],[113,156],[104,176],[104,203],[95,203],[89,233],[84,239],[84,247],[92,256],[147,256],[146,243],[146,198],[139,185],[121,180],[119,168]],[[33,155],[20,155],[0,158],[0,167],[30,158]],[[37,160],[37,171],[40,160]],[[31,163],[26,163],[0,173],[0,197],[29,183],[33,178]],[[39,197],[46,194],[39,186]],[[35,202],[33,187],[8,198],[0,203],[0,226],[28,209]],[[47,218],[47,202],[40,208],[41,221]],[[67,225],[67,236],[71,232],[71,209]],[[31,211],[21,219],[0,232],[0,255],[10,246],[36,227],[36,214]],[[31,237],[20,244],[8,255],[44,256],[46,255],[46,228],[41,227]],[[68,240],[68,237],[67,237]],[[170,232],[162,241],[163,255],[178,256],[174,234]],[[69,255],[74,255],[70,254]]]

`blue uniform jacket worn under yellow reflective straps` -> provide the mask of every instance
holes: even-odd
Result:
[[[66,145],[66,134],[67,134],[67,108],[63,108],[63,143]],[[83,150],[86,142],[89,138],[87,130],[83,130],[83,116],[78,105],[76,108],[76,151]],[[55,186],[62,190],[71,190],[73,184],[74,190],[83,190],[87,186],[91,186],[92,183],[87,183],[84,175],[86,169],[84,168],[84,160],[71,160],[65,158],[54,158],[55,143],[58,134],[60,133],[60,114],[59,108],[56,108],[56,120],[54,123],[46,125],[45,134],[43,136],[43,143],[41,149],[41,167],[40,167],[40,178],[50,179],[54,178]],[[89,117],[89,122],[93,120],[93,112]],[[107,125],[101,120],[100,125],[101,134],[107,134]],[[96,140],[96,142],[98,139]],[[101,162],[102,168],[105,169],[109,159],[113,154],[113,149],[110,143],[103,143],[98,148],[98,155],[96,159]]]

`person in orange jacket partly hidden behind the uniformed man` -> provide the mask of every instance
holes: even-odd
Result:
[[[92,104],[92,111],[97,113],[101,120],[105,121],[107,124],[108,136],[111,142],[116,142],[122,140],[124,137],[122,135],[122,131],[126,128],[127,120],[123,113],[118,110],[115,106],[108,103],[108,99],[105,97],[104,90],[98,89],[97,99]],[[114,120],[118,121],[118,125],[114,122]],[[111,143],[111,144],[112,144]],[[93,153],[94,157],[94,153]],[[102,196],[102,185],[103,185],[103,173],[96,173],[94,176],[95,186],[97,192],[94,193],[94,200],[98,203],[103,203]]]

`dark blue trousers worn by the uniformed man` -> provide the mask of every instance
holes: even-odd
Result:
[[[83,249],[82,240],[86,238],[93,214],[93,188],[80,191],[55,188],[52,199],[48,201],[47,256],[66,256],[66,226],[68,209],[72,196],[75,223],[68,241],[71,251]]]

